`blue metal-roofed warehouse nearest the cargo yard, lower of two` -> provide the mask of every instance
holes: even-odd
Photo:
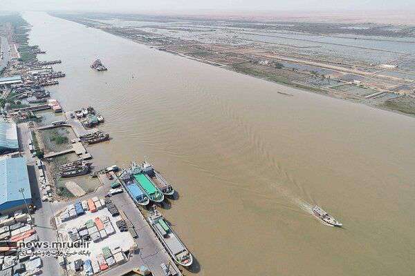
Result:
[[[19,191],[24,189],[23,195]],[[0,213],[26,208],[32,203],[28,167],[24,157],[0,159]]]

